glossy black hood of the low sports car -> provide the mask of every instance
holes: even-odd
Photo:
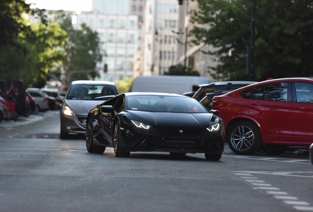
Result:
[[[208,127],[212,113],[170,113],[131,111],[137,117],[144,119],[145,124],[157,128],[199,129]],[[139,120],[136,120],[139,121]]]

